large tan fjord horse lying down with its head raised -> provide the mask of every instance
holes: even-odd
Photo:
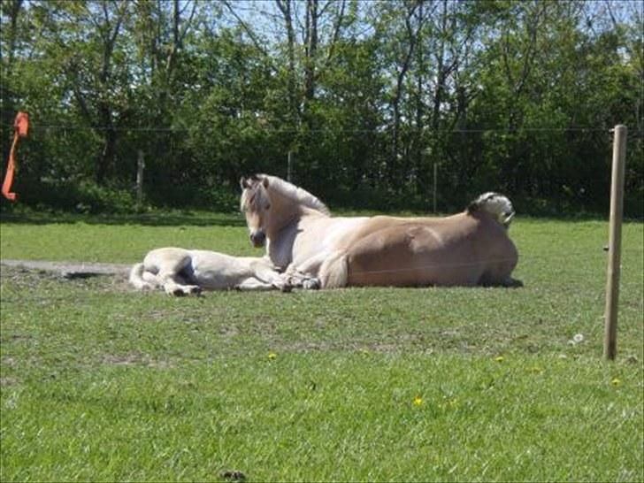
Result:
[[[332,218],[318,198],[280,178],[241,184],[250,241],[266,243],[272,263],[295,279],[317,278],[322,288],[517,284],[505,196],[487,193],[446,218]]]

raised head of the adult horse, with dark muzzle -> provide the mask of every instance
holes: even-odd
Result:
[[[266,242],[266,226],[271,217],[271,196],[268,194],[268,178],[252,176],[242,178],[242,201],[240,209],[246,217],[250,242],[255,248]]]

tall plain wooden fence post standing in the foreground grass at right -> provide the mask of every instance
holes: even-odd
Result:
[[[617,302],[619,300],[619,269],[622,249],[622,211],[624,206],[624,173],[626,164],[626,126],[615,126],[613,166],[610,181],[609,266],[604,312],[604,357],[615,360],[617,355]]]

